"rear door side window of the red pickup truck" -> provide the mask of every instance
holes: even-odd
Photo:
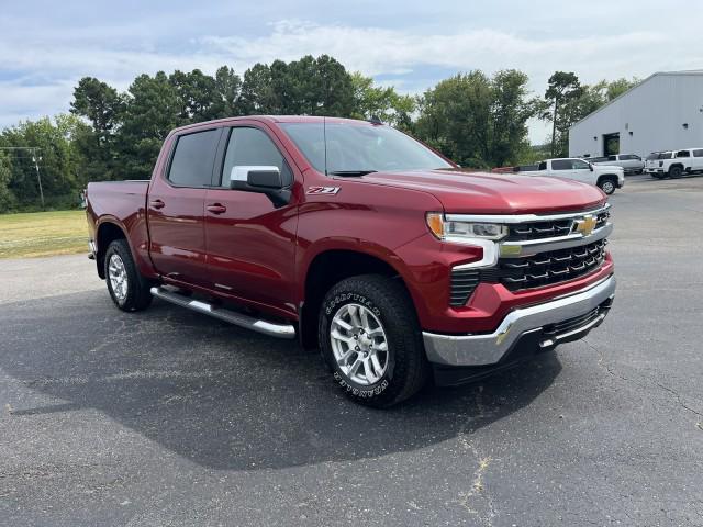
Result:
[[[212,167],[220,130],[181,135],[168,170],[168,180],[179,187],[207,187],[212,182]]]

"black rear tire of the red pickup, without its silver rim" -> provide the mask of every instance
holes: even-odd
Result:
[[[126,294],[115,293],[112,280],[110,279],[110,265],[115,256],[122,261],[124,267],[124,278],[126,281]],[[152,293],[149,292],[152,283],[145,279],[136,268],[130,245],[126,239],[115,239],[108,246],[104,260],[105,282],[108,291],[114,304],[122,311],[142,311],[152,303]],[[118,287],[119,289],[119,287]]]

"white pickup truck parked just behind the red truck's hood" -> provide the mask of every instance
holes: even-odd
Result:
[[[609,195],[625,184],[625,171],[622,167],[591,165],[576,157],[546,159],[537,165],[515,168],[514,171],[521,176],[551,176],[591,183]]]

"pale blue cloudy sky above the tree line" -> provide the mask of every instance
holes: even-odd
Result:
[[[516,68],[543,94],[555,70],[582,82],[703,69],[703,2],[1,0],[0,128],[67,112],[85,76],[125,90],[142,72],[243,74],[257,61],[327,54],[422,93],[459,71]],[[676,13],[679,22],[671,24]],[[673,31],[672,31],[673,30]],[[529,125],[533,143],[547,126]]]

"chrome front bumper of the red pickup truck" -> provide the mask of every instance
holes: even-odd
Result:
[[[615,295],[615,277],[610,276],[588,289],[551,302],[512,311],[491,334],[442,335],[423,332],[425,351],[431,362],[446,366],[487,366],[500,362],[526,334],[545,326],[585,315]],[[551,335],[539,341],[544,348],[584,336],[605,318],[605,312],[580,327]]]

